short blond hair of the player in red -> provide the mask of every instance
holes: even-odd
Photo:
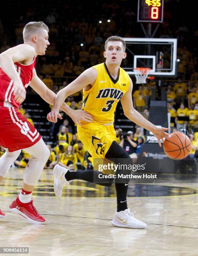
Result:
[[[31,21],[25,25],[23,28],[23,39],[24,41],[29,40],[31,36],[36,34],[38,30],[45,29],[47,32],[49,32],[48,26],[43,23],[43,21]]]

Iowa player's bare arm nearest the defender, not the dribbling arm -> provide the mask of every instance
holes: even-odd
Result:
[[[79,92],[88,85],[93,85],[97,78],[97,71],[94,68],[86,69],[79,77],[77,77],[73,82],[68,84],[65,88],[61,89],[55,97],[55,102],[53,104],[53,109],[48,113],[48,121],[57,122],[57,115],[59,113],[60,107],[65,102],[66,97],[72,95],[75,92]],[[82,119],[81,119],[82,120]],[[90,119],[93,120],[93,119]],[[82,120],[83,121],[83,120]],[[80,125],[80,123],[78,122]]]

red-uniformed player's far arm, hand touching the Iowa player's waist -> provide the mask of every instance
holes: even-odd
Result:
[[[50,105],[54,104],[54,99],[56,96],[55,93],[51,91],[37,76],[35,69],[33,70],[33,78],[30,83],[30,87],[32,87],[33,90],[35,90],[35,92],[37,92],[38,95],[40,95],[40,97],[42,97],[42,99],[48,102]],[[93,120],[89,113],[83,110],[73,110],[65,103],[63,103],[60,109],[67,113],[76,124],[80,125],[79,121],[91,122],[90,120]],[[57,114],[57,118],[62,119],[59,113]]]

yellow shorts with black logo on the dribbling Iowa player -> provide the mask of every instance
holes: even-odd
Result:
[[[101,125],[99,123],[88,123],[77,126],[80,141],[92,157],[89,160],[93,164],[93,159],[105,159],[105,154],[109,150],[113,141],[117,141],[113,124]]]

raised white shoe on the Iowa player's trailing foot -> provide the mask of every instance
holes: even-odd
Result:
[[[53,169],[54,175],[54,192],[57,197],[61,197],[63,186],[69,184],[69,182],[65,179],[65,174],[69,171],[59,164],[56,164]]]

